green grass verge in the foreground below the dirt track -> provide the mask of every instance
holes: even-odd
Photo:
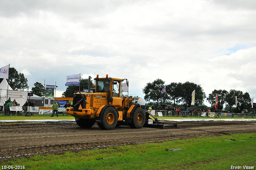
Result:
[[[224,140],[236,141],[224,141]],[[26,170],[229,170],[231,166],[256,169],[256,134],[173,140],[112,146],[62,155],[30,156],[0,160],[2,166]],[[172,152],[169,149],[182,148]]]

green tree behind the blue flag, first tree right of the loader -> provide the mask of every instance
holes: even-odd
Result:
[[[147,83],[146,86],[142,89],[145,94],[144,99],[146,101],[163,101],[165,96],[162,95],[161,90],[164,88],[164,81],[161,79],[156,79],[152,83]]]

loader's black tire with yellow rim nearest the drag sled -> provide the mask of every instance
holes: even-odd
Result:
[[[135,108],[132,115],[132,122],[129,124],[131,128],[142,128],[146,122],[146,114],[142,108]]]

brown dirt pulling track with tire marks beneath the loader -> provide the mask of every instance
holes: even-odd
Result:
[[[101,130],[97,125],[83,129],[76,124],[0,124],[0,160],[8,156],[62,153],[108,147],[114,144],[162,142],[222,134],[256,132],[256,122],[177,122],[180,128],[132,129],[129,126]],[[54,150],[54,151],[53,151]]]

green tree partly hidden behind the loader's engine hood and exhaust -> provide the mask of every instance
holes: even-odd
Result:
[[[83,91],[83,89],[88,89],[88,82],[89,79],[81,78],[80,80],[80,91]],[[93,82],[91,80],[91,88],[94,88]],[[62,97],[73,97],[74,91],[79,91],[79,86],[68,86],[66,88],[66,91],[62,93]]]

